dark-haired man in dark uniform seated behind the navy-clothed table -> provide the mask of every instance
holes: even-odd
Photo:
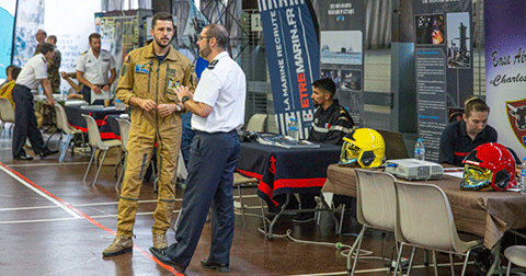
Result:
[[[332,79],[320,79],[312,83],[312,102],[318,111],[309,131],[310,141],[343,145],[343,137],[351,133],[354,126],[353,118],[338,100],[332,99],[336,93],[336,84]],[[299,194],[302,209],[316,208],[315,194]],[[299,212],[294,221],[307,222],[315,219],[315,212]]]

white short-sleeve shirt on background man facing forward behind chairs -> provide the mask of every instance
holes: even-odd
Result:
[[[84,79],[95,85],[107,84],[108,72],[115,68],[115,59],[110,51],[101,49],[99,58],[93,55],[93,49],[87,50],[77,60],[75,69],[84,72]]]

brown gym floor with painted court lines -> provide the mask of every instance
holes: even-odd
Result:
[[[8,124],[8,127],[10,125]],[[48,135],[45,135],[47,138]],[[52,137],[56,148],[58,136]],[[34,156],[31,149],[27,153]],[[91,181],[94,169],[84,184],[82,177],[89,157],[66,154],[62,165],[58,154],[44,160],[13,161],[11,135],[0,137],[0,275],[173,275],[175,271],[160,265],[149,254],[151,246],[152,211],[157,194],[152,183],[142,185],[138,215],[134,228],[136,238],[132,253],[116,257],[102,257],[102,251],[114,239],[117,198],[113,165],[104,165],[96,185]],[[227,275],[346,275],[345,251],[361,226],[346,216],[343,232],[334,234],[334,223],[322,214],[320,225],[296,223],[285,217],[274,230],[270,241],[262,228],[261,210],[255,188],[243,188],[249,205],[247,226],[237,210],[236,232]],[[181,207],[182,191],[178,188],[178,203],[173,221]],[[237,191],[235,191],[235,200]],[[286,235],[289,231],[289,237]],[[174,229],[168,231],[169,243],[174,242]],[[294,240],[293,240],[294,239]],[[225,275],[202,268],[199,261],[207,257],[210,226],[205,225],[199,244],[186,269],[187,275]],[[348,245],[348,246],[347,246]],[[358,262],[357,275],[389,275],[387,258],[393,255],[393,235],[382,238],[379,231],[368,231],[362,248],[371,256]],[[418,251],[412,275],[433,275],[431,267],[422,265]],[[409,256],[408,251],[405,256]],[[380,256],[386,257],[381,260]],[[448,257],[438,254],[439,275],[449,275]],[[456,258],[456,262],[460,262]],[[456,266],[459,274],[461,266]],[[473,266],[468,275],[474,275]],[[392,274],[392,273],[391,273]]]

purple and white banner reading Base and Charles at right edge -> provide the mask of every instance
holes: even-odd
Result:
[[[526,156],[526,16],[524,1],[485,1],[485,95],[499,143]]]

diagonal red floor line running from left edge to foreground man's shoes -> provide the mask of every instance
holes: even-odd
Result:
[[[52,193],[47,192],[45,188],[36,185],[35,183],[31,182],[30,180],[27,180],[26,177],[24,177],[22,174],[20,174],[19,172],[12,170],[11,168],[7,166],[5,164],[3,164],[2,162],[0,162],[0,169],[2,171],[4,171],[5,173],[10,174],[11,176],[13,177],[16,177],[16,179],[21,179],[21,180],[25,180],[26,183],[24,182],[21,182],[22,184],[24,184],[25,186],[30,187],[31,189],[33,191],[38,191],[37,193],[44,193],[44,195],[48,196],[49,197],[49,200],[50,199],[54,199],[57,204],[62,204],[66,208],[69,208],[70,210],[68,212],[70,214],[76,214],[76,216],[80,216],[80,217],[83,217],[84,219],[87,219],[88,221],[90,221],[92,225],[105,230],[106,232],[108,232],[110,234],[112,235],[116,235],[117,233],[115,231],[113,231],[112,229],[101,225],[99,221],[94,220],[93,218],[91,218],[90,216],[83,214],[82,211],[80,211],[79,209],[75,208],[72,205],[70,205],[69,203],[58,198],[57,196],[53,195]],[[55,203],[54,202],[54,203]],[[164,269],[171,272],[173,275],[183,275],[183,274],[180,274],[178,273],[178,271],[175,271],[175,268],[173,268],[172,266],[170,265],[167,265],[167,264],[163,264],[161,263],[159,260],[157,260],[157,257],[153,257],[150,253],[146,252],[145,250],[142,250],[141,248],[139,248],[137,244],[134,244],[134,249],[139,251],[140,254],[142,254],[144,256],[146,256],[147,258],[156,262],[158,265],[162,266]]]

